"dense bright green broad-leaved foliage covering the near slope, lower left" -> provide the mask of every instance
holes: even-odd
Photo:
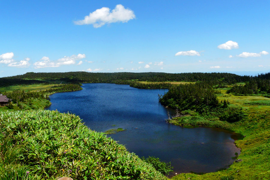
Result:
[[[72,114],[1,113],[0,131],[0,179],[166,179]]]

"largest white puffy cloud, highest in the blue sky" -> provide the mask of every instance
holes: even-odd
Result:
[[[116,7],[110,11],[108,7],[102,7],[89,16],[85,16],[83,20],[75,21],[76,25],[93,24],[94,28],[100,28],[105,24],[113,22],[128,22],[130,19],[134,19],[135,14],[133,10],[125,8],[122,4],[116,5]]]

